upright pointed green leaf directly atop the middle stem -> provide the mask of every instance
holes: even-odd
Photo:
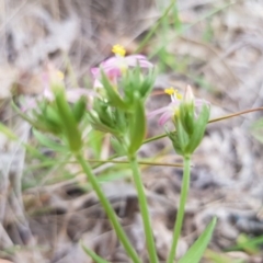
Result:
[[[129,149],[128,152],[134,155],[141,146],[146,134],[145,107],[139,95],[136,95],[135,112],[132,115],[129,125]]]

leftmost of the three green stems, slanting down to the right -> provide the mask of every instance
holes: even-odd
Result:
[[[128,256],[133,260],[133,262],[141,263],[139,256],[137,255],[137,253],[134,250],[133,245],[130,244],[126,233],[124,232],[124,229],[122,228],[122,226],[116,217],[116,214],[115,214],[114,209],[112,208],[111,203],[104,195],[104,193],[96,180],[96,176],[92,173],[92,170],[91,170],[89,163],[83,159],[83,157],[80,153],[78,153],[76,156],[76,158],[79,161],[79,163],[81,164],[83,171],[85,172],[90,184],[92,185],[93,190],[95,191],[95,193],[96,193],[117,237],[119,238],[119,241],[122,242],[124,249],[126,250]]]

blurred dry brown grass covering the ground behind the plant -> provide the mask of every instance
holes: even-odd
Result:
[[[134,52],[141,39],[136,37],[160,12],[150,0],[129,4],[124,0],[46,2],[5,0],[0,3],[0,118],[20,138],[11,141],[0,134],[0,258],[18,263],[91,262],[78,244],[83,239],[108,261],[128,262],[95,195],[83,188],[84,176],[67,178],[68,173],[77,173],[78,167],[26,170],[39,160],[26,153],[22,142],[34,147],[35,141],[28,125],[15,116],[9,100],[12,89],[20,94],[38,94],[43,90],[41,75],[48,60],[66,72],[68,88],[82,87],[90,67],[110,55],[116,39]],[[213,117],[263,104],[263,5],[255,0],[237,1],[221,12],[201,19],[226,2],[179,1],[181,23],[199,22],[180,34],[169,30],[165,48],[175,65],[168,66],[158,76],[155,90],[158,93],[171,84],[182,89],[190,83],[197,96],[211,102]],[[150,55],[162,47],[163,37],[159,31],[142,52]],[[153,110],[167,100],[164,95],[151,96],[147,106]],[[211,251],[220,253],[235,245],[240,233],[263,235],[263,147],[250,130],[259,116],[262,113],[209,125],[194,157],[179,255],[213,215],[219,222]],[[163,130],[157,127],[156,121],[149,122],[148,136],[160,133]],[[107,138],[103,140],[101,156],[104,158],[108,156],[108,145]],[[54,158],[53,152],[38,150],[45,158]],[[160,161],[180,161],[168,139],[144,146],[140,156],[152,157],[160,151],[157,157]],[[61,159],[55,158],[58,162]],[[96,172],[101,175],[108,172],[107,169],[108,164],[102,165]],[[125,168],[113,171],[127,174],[127,179],[104,184],[105,193],[147,262],[141,218],[129,173]],[[147,165],[142,171],[161,261],[171,242],[182,172],[175,168]],[[22,182],[27,185],[25,191]],[[233,259],[261,262],[262,258],[260,252],[249,251],[225,253],[225,262]],[[216,261],[207,252],[204,262]]]

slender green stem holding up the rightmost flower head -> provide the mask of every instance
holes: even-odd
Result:
[[[181,233],[183,218],[184,218],[184,208],[187,199],[188,187],[190,187],[190,171],[191,171],[191,158],[187,156],[184,157],[184,173],[183,173],[183,182],[182,182],[182,190],[180,196],[180,204],[176,215],[175,227],[173,229],[173,239],[172,239],[172,247],[170,249],[170,253],[167,260],[167,263],[173,263],[176,256],[176,247],[179,237]]]

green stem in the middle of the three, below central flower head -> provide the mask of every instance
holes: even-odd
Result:
[[[146,243],[149,253],[150,263],[158,263],[157,252],[156,252],[156,244],[153,240],[150,216],[147,205],[147,198],[144,190],[142,180],[140,176],[140,171],[138,167],[138,162],[135,156],[129,157],[130,167],[133,170],[134,182],[138,193],[138,201],[140,213],[144,221],[145,235],[146,235]]]

